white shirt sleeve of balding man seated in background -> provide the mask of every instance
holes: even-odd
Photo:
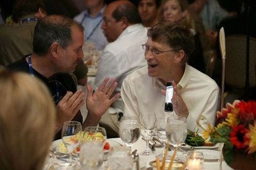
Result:
[[[103,51],[100,59],[97,74],[94,82],[94,90],[96,90],[105,78],[119,78],[119,67],[117,58],[109,51]]]

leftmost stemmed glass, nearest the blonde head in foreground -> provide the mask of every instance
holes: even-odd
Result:
[[[69,152],[69,163],[73,163],[72,152],[80,144],[82,126],[80,122],[68,121],[63,124],[61,138]]]

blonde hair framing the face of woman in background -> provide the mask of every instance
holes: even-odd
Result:
[[[194,19],[191,17],[189,5],[186,0],[162,0],[161,6],[159,8],[158,18],[159,21],[164,21],[163,12],[164,12],[164,4],[167,1],[177,1],[181,7],[181,11],[187,11],[187,14],[184,18],[182,18],[179,23],[189,29],[195,29]]]

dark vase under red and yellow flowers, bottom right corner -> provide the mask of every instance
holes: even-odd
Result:
[[[256,154],[247,154],[236,149],[227,150],[223,148],[225,162],[233,169],[254,169],[256,164]]]

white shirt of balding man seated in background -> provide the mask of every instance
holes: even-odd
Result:
[[[105,46],[99,60],[94,89],[97,89],[104,78],[115,78],[120,92],[124,78],[134,70],[146,65],[144,50],[141,44],[147,41],[147,28],[140,23],[127,27],[120,36]],[[111,113],[122,112],[123,102],[119,98],[111,108]]]

